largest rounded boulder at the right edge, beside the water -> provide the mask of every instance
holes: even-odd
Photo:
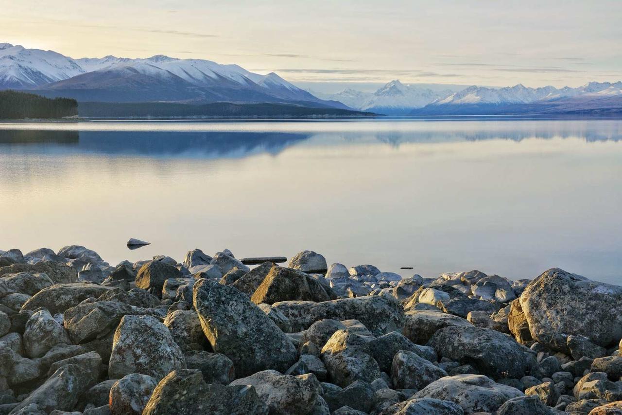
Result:
[[[603,347],[622,338],[622,287],[552,268],[527,285],[520,303],[532,338],[554,350],[569,353],[569,335]]]

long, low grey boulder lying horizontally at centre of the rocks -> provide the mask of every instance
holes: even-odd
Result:
[[[392,298],[366,296],[340,298],[321,303],[309,301],[284,301],[272,304],[289,318],[292,330],[307,330],[313,323],[324,318],[333,320],[359,320],[374,335],[401,330],[404,325],[404,310]]]

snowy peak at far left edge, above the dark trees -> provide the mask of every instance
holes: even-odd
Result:
[[[0,44],[0,88],[29,88],[85,72],[70,57],[52,50]]]

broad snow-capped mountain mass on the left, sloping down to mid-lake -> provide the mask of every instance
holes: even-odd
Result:
[[[72,59],[52,50],[0,44],[0,89],[7,88],[93,101],[295,102],[346,108],[277,74],[254,74],[239,65],[165,55]]]

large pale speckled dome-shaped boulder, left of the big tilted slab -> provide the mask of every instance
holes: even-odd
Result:
[[[142,373],[159,380],[177,369],[185,369],[183,354],[164,324],[151,316],[121,318],[114,332],[108,376],[121,379]]]

